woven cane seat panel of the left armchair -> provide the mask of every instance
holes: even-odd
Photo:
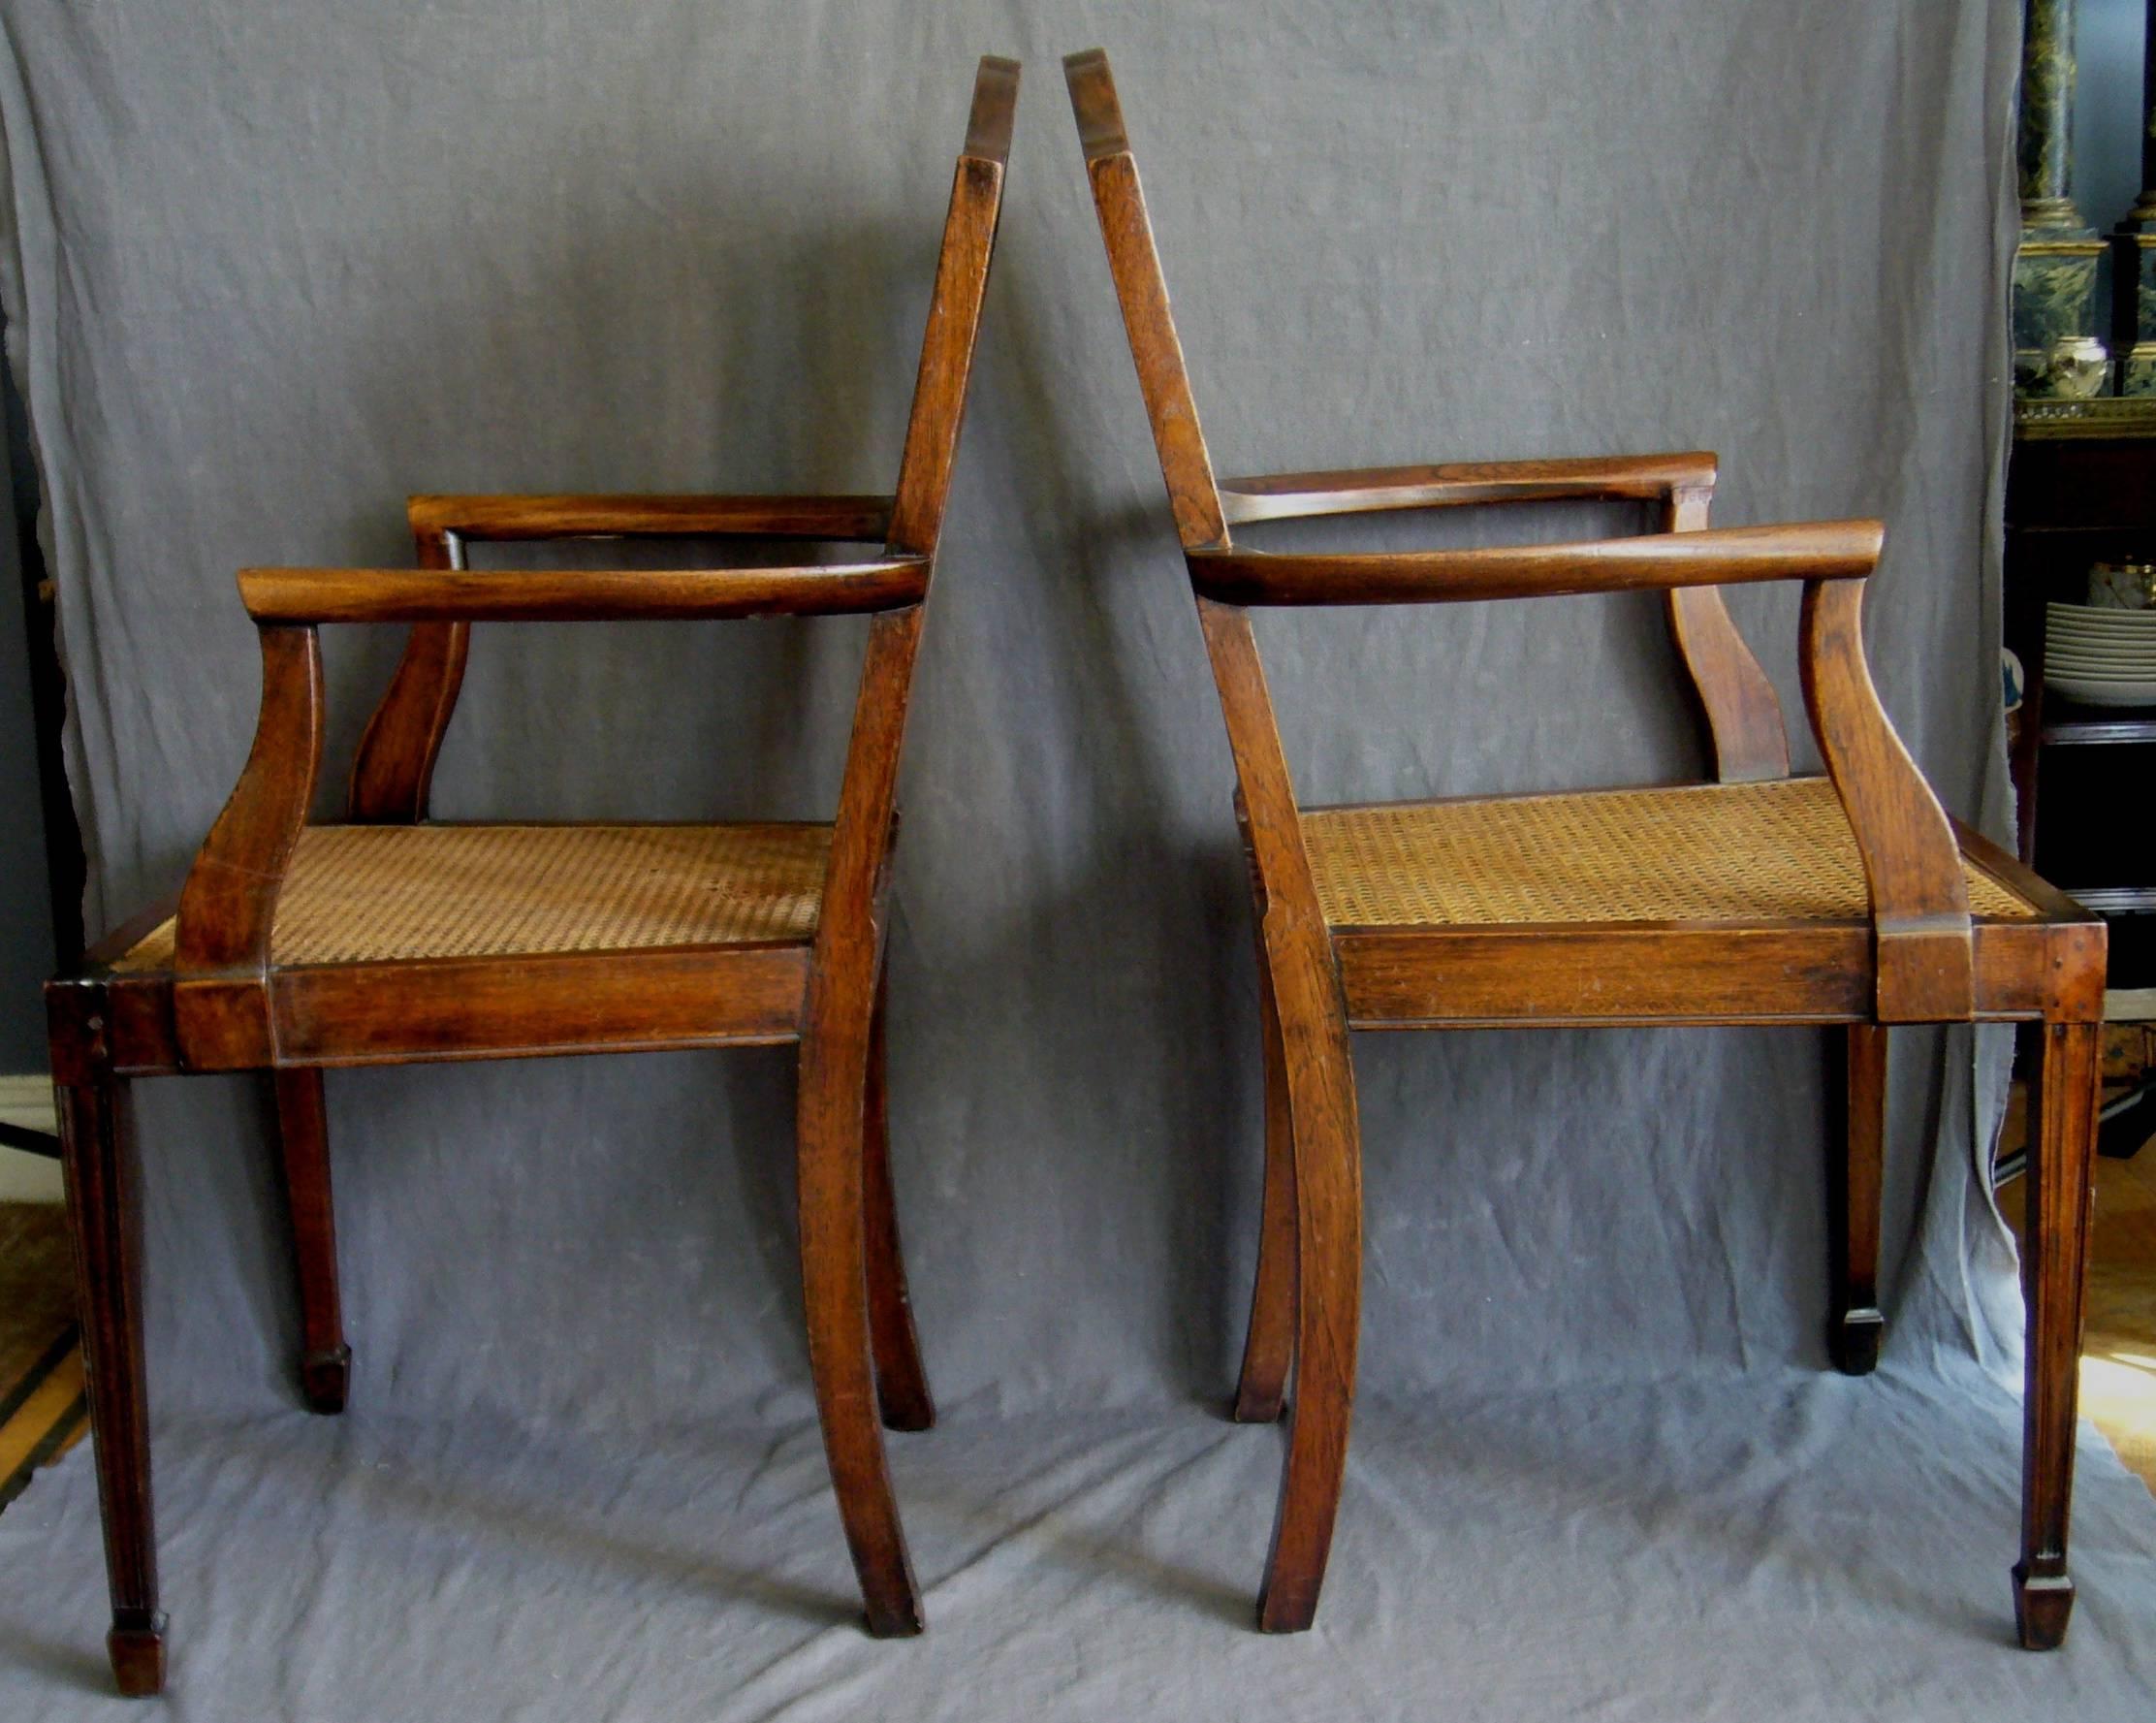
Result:
[[[808,940],[830,826],[308,826],[276,964]],[[119,968],[166,968],[172,923]]]

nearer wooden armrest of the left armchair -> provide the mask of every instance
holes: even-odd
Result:
[[[272,623],[686,621],[897,610],[929,587],[927,556],[785,569],[241,569],[248,615]]]

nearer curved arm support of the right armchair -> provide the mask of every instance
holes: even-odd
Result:
[[[1895,735],[1865,662],[1863,580],[1805,584],[1805,709],[1865,858],[1878,1020],[1975,1016],[1968,882],[1938,798]]]

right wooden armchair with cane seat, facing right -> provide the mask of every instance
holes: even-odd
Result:
[[[1835,1363],[1878,1356],[1887,1029],[2035,1020],[2020,1639],[2057,1645],[2081,1346],[2104,929],[1949,822],[1880,709],[1861,604],[1869,520],[1705,530],[1712,455],[1296,472],[1216,481],[1108,60],[1063,63],[1235,757],[1266,1067],[1266,1197],[1235,1417],[1281,1415],[1287,1466],[1259,1624],[1317,1611],[1348,1458],[1360,1298],[1350,1029],[1839,1026],[1848,1130],[1830,1156]],[[1602,543],[1263,554],[1291,515],[1632,498],[1660,530]],[[1826,776],[1792,776],[1774,690],[1716,587],[1802,580],[1805,707]],[[1716,781],[1311,809],[1296,802],[1250,630],[1261,604],[1664,593]]]

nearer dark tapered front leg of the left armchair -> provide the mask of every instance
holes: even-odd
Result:
[[[60,1156],[112,1587],[106,1650],[121,1693],[136,1697],[164,1691],[164,1613],[142,1369],[142,1208],[129,1124],[127,1085],[106,1072],[60,1089]]]

